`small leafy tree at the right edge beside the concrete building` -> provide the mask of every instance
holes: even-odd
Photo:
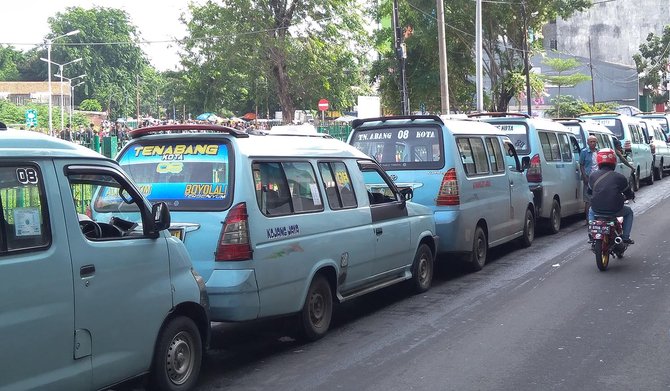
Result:
[[[647,35],[645,43],[640,45],[640,52],[633,55],[642,84],[646,91],[653,91],[655,103],[667,102],[666,93],[662,92],[661,84],[668,80],[668,65],[670,65],[670,25],[665,26],[661,36],[654,33]],[[666,84],[667,85],[667,84]],[[667,87],[665,88],[667,91]]]

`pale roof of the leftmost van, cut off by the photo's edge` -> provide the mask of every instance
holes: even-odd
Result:
[[[3,157],[87,157],[104,158],[92,149],[39,132],[0,129],[0,156]]]

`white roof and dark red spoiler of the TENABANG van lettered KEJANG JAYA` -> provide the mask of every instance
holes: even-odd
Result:
[[[369,159],[367,155],[353,146],[330,137],[310,137],[295,135],[245,135],[246,137],[235,137],[226,133],[179,133],[179,134],[153,134],[134,139],[128,147],[134,143],[150,143],[152,141],[184,142],[197,140],[234,140],[237,151],[244,156],[263,157],[350,157],[356,159]],[[125,149],[124,149],[125,150]]]

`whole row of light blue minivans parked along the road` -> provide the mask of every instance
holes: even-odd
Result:
[[[639,174],[653,170],[636,120],[595,119],[361,119],[351,145],[166,125],[129,132],[118,164],[0,126],[0,389],[145,373],[188,389],[210,320],[289,315],[315,340],[336,302],[428,290],[438,255],[479,270],[489,248],[583,212],[587,134],[612,147],[620,123]]]

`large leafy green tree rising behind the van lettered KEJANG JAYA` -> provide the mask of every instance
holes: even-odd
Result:
[[[285,121],[327,97],[354,104],[367,35],[355,0],[231,0],[191,5],[181,80],[201,111],[250,110],[265,98]],[[234,26],[234,29],[231,27]],[[275,100],[276,97],[276,101]]]

